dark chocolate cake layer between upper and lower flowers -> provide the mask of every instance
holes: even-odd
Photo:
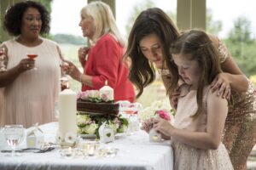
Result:
[[[119,104],[111,102],[90,102],[83,99],[77,100],[77,111],[80,114],[113,115],[119,114]]]

